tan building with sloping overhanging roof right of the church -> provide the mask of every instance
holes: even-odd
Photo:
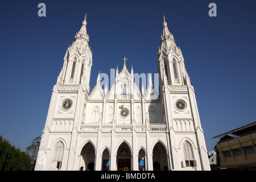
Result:
[[[256,170],[256,122],[217,135],[220,168],[226,170]]]

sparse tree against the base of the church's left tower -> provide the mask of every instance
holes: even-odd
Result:
[[[38,150],[40,146],[40,137],[36,137],[32,140],[31,145],[26,148],[26,154],[30,156],[31,159],[31,170],[34,170],[36,158],[38,156]]]

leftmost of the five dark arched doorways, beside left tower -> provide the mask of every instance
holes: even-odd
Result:
[[[81,171],[94,171],[95,149],[92,143],[88,142],[81,151]]]

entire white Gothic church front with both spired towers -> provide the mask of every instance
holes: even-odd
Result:
[[[53,86],[35,170],[210,170],[195,90],[165,17],[159,94],[151,76],[139,90],[125,62],[109,90],[99,75],[90,92],[86,24],[85,15]]]

